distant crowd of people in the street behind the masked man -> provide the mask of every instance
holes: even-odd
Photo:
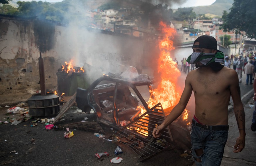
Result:
[[[187,58],[183,58],[181,60],[181,68],[180,71],[183,71],[185,74],[189,73],[189,70],[192,71],[195,69],[195,64],[189,64]],[[175,58],[174,62],[178,61]],[[239,78],[239,82],[242,82],[242,74],[246,74],[246,83],[245,85],[252,84],[252,80],[254,79],[254,74],[256,72],[256,51],[247,51],[247,53],[242,52],[240,55],[231,54],[228,56],[225,55],[224,66],[228,68],[233,68]],[[233,65],[233,66],[232,66]]]

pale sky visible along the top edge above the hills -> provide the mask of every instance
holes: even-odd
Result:
[[[21,1],[32,1],[32,0],[21,0]],[[40,0],[35,0],[35,1],[40,1]],[[46,2],[61,2],[62,0],[41,0],[41,1],[46,1]],[[177,8],[187,8],[187,7],[193,7],[193,6],[206,6],[206,5],[211,5],[215,2],[216,0],[187,0],[184,4],[174,4],[172,6],[173,9]]]

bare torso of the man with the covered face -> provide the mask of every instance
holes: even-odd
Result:
[[[230,70],[223,67],[218,72],[209,67],[191,71],[189,83],[195,95],[195,116],[206,125],[227,125],[230,101]]]

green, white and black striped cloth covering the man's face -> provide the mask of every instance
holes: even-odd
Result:
[[[201,62],[205,66],[208,66],[212,62],[224,63],[224,54],[221,52],[215,53],[193,53],[189,55],[186,60],[189,64]]]

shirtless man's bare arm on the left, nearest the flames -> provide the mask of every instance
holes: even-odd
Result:
[[[165,127],[167,127],[175,119],[177,119],[186,108],[193,90],[190,83],[191,79],[192,79],[191,72],[189,72],[185,81],[185,87],[180,97],[179,103],[172,109],[172,111],[169,113],[165,121],[153,130],[152,135],[155,138],[160,137]]]

